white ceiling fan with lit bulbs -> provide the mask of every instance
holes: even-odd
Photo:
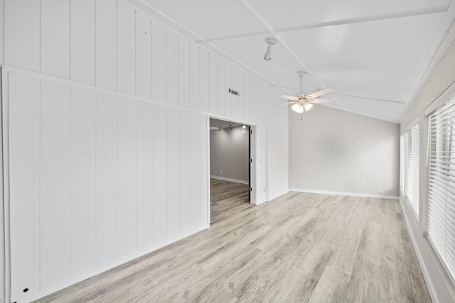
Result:
[[[323,94],[328,94],[331,92],[333,89],[330,87],[327,87],[326,89],[321,89],[318,92],[314,92],[313,94],[304,94],[301,91],[301,81],[305,77],[306,72],[297,72],[297,75],[300,77],[300,92],[299,94],[296,94],[296,96],[289,96],[289,94],[282,94],[279,97],[284,98],[284,99],[289,99],[292,100],[291,102],[283,103],[283,104],[278,104],[270,107],[276,107],[276,106],[283,106],[283,105],[288,105],[288,104],[294,104],[292,106],[292,110],[296,111],[297,113],[303,113],[304,111],[309,111],[311,107],[313,107],[313,104],[324,104],[324,103],[330,103],[332,100],[331,99],[316,99],[316,97],[322,96]]]

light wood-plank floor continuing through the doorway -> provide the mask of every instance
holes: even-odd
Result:
[[[397,201],[212,181],[210,228],[40,302],[431,302]]]

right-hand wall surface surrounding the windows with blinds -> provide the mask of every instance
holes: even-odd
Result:
[[[400,132],[404,132],[410,123],[419,117],[419,221],[417,222],[410,205],[402,197],[400,200],[402,209],[405,214],[407,226],[412,236],[414,248],[417,250],[422,272],[429,286],[432,299],[439,302],[455,302],[455,285],[451,282],[450,277],[446,274],[439,259],[430,246],[429,241],[424,236],[426,233],[424,218],[427,216],[428,200],[428,168],[427,168],[427,144],[428,144],[428,117],[424,116],[424,109],[444,92],[449,85],[455,81],[455,24],[451,25],[441,45],[448,48],[445,52],[438,50],[439,62],[434,65],[434,70],[419,88],[414,99],[407,106],[405,114],[402,116]],[[441,53],[439,53],[441,52]]]

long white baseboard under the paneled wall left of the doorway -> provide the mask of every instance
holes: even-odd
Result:
[[[93,277],[95,275],[99,275],[102,272],[105,272],[107,270],[115,268],[115,267],[117,267],[119,265],[122,265],[124,263],[127,263],[127,262],[129,262],[131,260],[137,259],[137,258],[139,258],[139,257],[141,257],[143,255],[146,255],[148,253],[152,253],[155,250],[158,250],[159,248],[162,248],[162,247],[167,246],[167,245],[169,245],[171,243],[174,243],[174,242],[176,242],[178,240],[181,240],[183,238],[191,236],[194,233],[198,233],[199,231],[203,231],[204,229],[207,229],[209,227],[210,227],[210,225],[207,224],[205,226],[197,228],[197,229],[195,229],[193,231],[190,231],[188,233],[183,233],[182,235],[177,236],[176,238],[172,238],[171,240],[161,242],[161,243],[159,243],[156,246],[151,246],[149,248],[141,250],[141,251],[139,251],[137,253],[134,253],[133,255],[129,255],[126,258],[122,258],[121,260],[118,260],[117,262],[109,264],[109,265],[107,265],[107,266],[105,266],[103,268],[97,268],[96,270],[94,270],[94,271],[92,271],[92,272],[90,272],[90,273],[88,273],[86,275],[82,275],[80,277],[77,277],[74,280],[71,280],[70,282],[65,282],[64,284],[59,285],[58,287],[54,287],[54,288],[52,288],[50,290],[44,290],[43,292],[40,292],[37,297],[31,298],[30,302],[35,301],[36,299],[41,299],[42,297],[48,296],[49,294],[53,294],[54,292],[58,292],[59,290],[63,290],[63,288],[65,288],[65,287],[68,287],[68,286],[71,286],[71,285],[75,285],[76,283],[81,282],[81,281],[83,281],[85,279],[88,279],[89,277]]]

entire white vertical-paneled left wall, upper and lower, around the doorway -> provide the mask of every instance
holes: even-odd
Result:
[[[4,27],[4,64],[37,73],[9,74],[4,108],[11,301],[205,228],[207,116],[257,126],[257,204],[287,191],[287,163],[266,174],[287,108],[245,70],[124,1],[4,0]]]

